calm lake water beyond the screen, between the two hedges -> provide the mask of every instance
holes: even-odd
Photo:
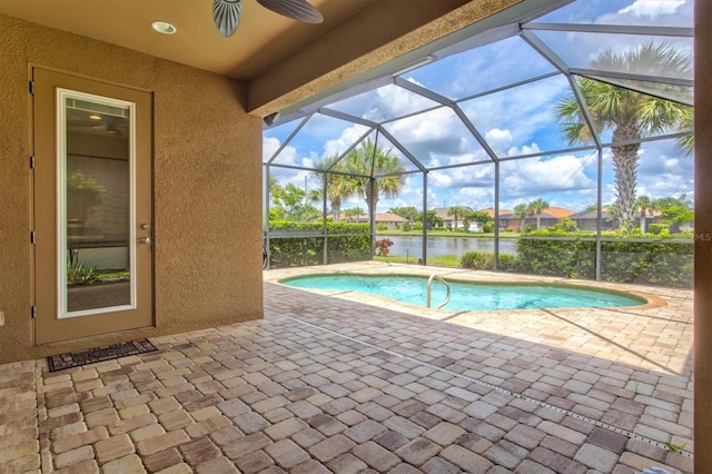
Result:
[[[389,238],[393,245],[389,255],[409,256],[413,258],[423,257],[423,238],[415,236],[387,236],[376,239]],[[477,237],[431,237],[427,238],[427,256],[441,257],[445,255],[462,256],[466,251],[490,251],[494,253],[493,238]],[[516,254],[516,240],[500,239],[500,254]]]

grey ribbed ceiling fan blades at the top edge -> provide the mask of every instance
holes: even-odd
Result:
[[[305,23],[320,23],[324,17],[307,0],[257,0],[263,7]],[[212,19],[224,37],[237,30],[243,18],[243,0],[212,0]]]

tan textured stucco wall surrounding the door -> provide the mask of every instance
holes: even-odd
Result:
[[[263,316],[261,120],[244,85],[1,14],[0,65],[0,363]],[[30,65],[154,92],[156,328],[32,346]]]

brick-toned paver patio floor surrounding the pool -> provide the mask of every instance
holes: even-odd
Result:
[[[275,283],[334,270],[513,278],[274,269],[264,319],[62,372],[1,365],[0,472],[692,471],[691,292],[595,284],[652,304],[453,313]]]

